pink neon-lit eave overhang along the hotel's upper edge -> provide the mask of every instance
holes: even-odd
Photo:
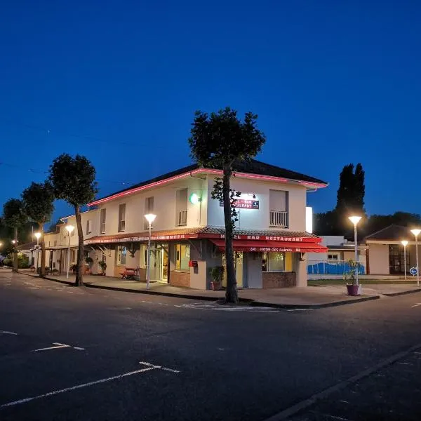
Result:
[[[142,192],[142,190],[152,189],[155,187],[160,187],[162,185],[166,185],[169,182],[173,182],[175,180],[180,180],[181,178],[192,177],[196,174],[213,174],[213,175],[223,175],[222,170],[215,170],[212,168],[197,168],[193,171],[188,171],[187,173],[182,173],[178,175],[174,175],[173,177],[166,178],[164,180],[159,180],[155,182],[151,182],[147,185],[134,187],[133,189],[125,190],[124,192],[119,192],[116,194],[111,194],[110,196],[104,197],[102,199],[95,200],[91,203],[88,203],[88,206],[95,206],[100,205],[101,203],[105,203],[107,201],[111,201],[114,199],[119,199],[120,197],[129,196],[131,194],[135,194],[138,192]],[[306,189],[322,189],[324,187],[328,187],[328,183],[321,183],[321,182],[309,182],[309,181],[302,181],[302,180],[292,180],[290,178],[282,178],[282,177],[274,177],[272,175],[260,175],[260,174],[251,174],[251,173],[241,173],[237,171],[233,171],[233,175],[238,178],[247,178],[250,180],[263,180],[263,181],[274,181],[274,182],[281,182],[281,183],[290,183],[295,185],[300,185],[302,187],[306,187]],[[69,217],[67,217],[69,218]]]

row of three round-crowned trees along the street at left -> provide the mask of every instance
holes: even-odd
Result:
[[[78,228],[79,248],[76,265],[76,285],[83,284],[83,229],[81,227],[81,206],[95,198],[97,193],[95,168],[81,155],[75,157],[61,154],[50,166],[45,182],[32,182],[25,189],[20,199],[9,199],[4,203],[0,232],[13,236],[13,241],[6,245],[6,252],[13,253],[13,271],[18,272],[18,244],[27,241],[34,226],[41,234],[41,265],[39,275],[45,276],[46,246],[44,225],[51,220],[55,199],[64,199],[74,207]],[[6,237],[7,238],[7,237]],[[9,237],[10,238],[10,237]]]

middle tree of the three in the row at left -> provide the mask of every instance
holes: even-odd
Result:
[[[32,184],[22,192],[25,213],[39,225],[41,234],[41,267],[39,276],[46,274],[46,243],[44,241],[44,224],[51,218],[54,210],[54,191],[50,182]]]

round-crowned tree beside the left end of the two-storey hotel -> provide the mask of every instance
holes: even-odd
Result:
[[[77,252],[76,286],[83,285],[83,229],[81,206],[93,201],[98,192],[95,167],[85,156],[61,154],[50,166],[49,180],[57,199],[64,199],[74,207],[79,248]]]

